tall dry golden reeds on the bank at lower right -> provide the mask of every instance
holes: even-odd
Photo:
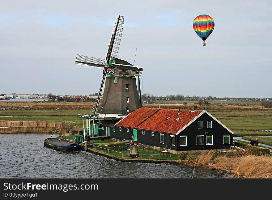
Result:
[[[203,151],[201,155],[188,157],[182,163],[191,166],[206,166],[224,170],[240,178],[272,178],[272,156],[261,154],[257,148],[227,152]]]

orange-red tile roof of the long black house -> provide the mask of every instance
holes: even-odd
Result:
[[[201,112],[202,110],[181,110],[179,114],[174,109],[139,108],[115,126],[175,134]],[[168,117],[171,118],[167,119]],[[177,118],[180,119],[176,120]]]

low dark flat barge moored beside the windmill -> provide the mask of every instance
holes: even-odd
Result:
[[[57,138],[47,138],[44,142],[44,147],[52,148],[59,151],[79,151],[81,145],[68,142],[66,140],[60,140]]]

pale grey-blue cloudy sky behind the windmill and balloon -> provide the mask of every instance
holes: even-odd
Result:
[[[1,1],[0,93],[98,92],[116,15],[124,16],[118,58],[143,67],[153,95],[272,97],[271,1]],[[202,46],[193,19],[215,28]]]

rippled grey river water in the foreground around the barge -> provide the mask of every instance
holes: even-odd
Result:
[[[53,134],[52,137],[57,137]],[[180,164],[119,162],[90,152],[43,147],[51,134],[0,134],[0,178],[191,178]],[[230,178],[218,170],[195,168],[193,178]]]

